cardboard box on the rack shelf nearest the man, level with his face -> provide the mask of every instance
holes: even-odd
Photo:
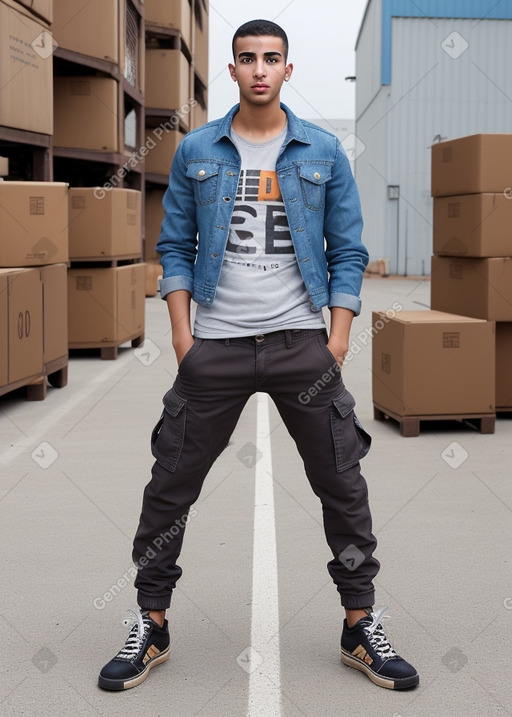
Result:
[[[146,107],[179,110],[190,97],[190,65],[181,50],[146,49]],[[188,126],[188,119],[185,117]]]

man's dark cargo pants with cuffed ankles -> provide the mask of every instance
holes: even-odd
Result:
[[[134,540],[141,607],[169,607],[182,573],[176,561],[189,508],[257,391],[275,402],[321,500],[334,556],[328,570],[342,604],[373,605],[379,563],[372,557],[376,539],[359,466],[371,439],[354,414],[354,399],[326,347],[326,332],[299,329],[196,339],[182,360],[152,434],[156,462]]]

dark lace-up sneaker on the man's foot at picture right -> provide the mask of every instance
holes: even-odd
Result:
[[[406,690],[420,681],[412,665],[393,650],[380,620],[387,607],[362,617],[353,627],[343,621],[341,661],[364,672],[379,687]]]

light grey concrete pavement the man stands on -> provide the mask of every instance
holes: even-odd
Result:
[[[371,311],[395,301],[428,307],[428,281],[365,281],[352,334],[361,350],[344,379],[373,436],[362,465],[382,566],[376,606],[389,606],[384,626],[420,672],[419,688],[383,690],[341,665],[342,612],[326,570],[320,507],[270,405],[279,674],[268,678],[280,687],[278,702],[265,704],[271,690],[251,678],[265,672],[265,649],[256,668],[250,652],[258,464],[241,460],[258,445],[256,397],[187,528],[184,575],[168,615],[171,659],[125,693],[97,688],[135,607],[131,540],[152,464],[149,435],[176,371],[166,308],[155,298],[147,301],[144,355],[125,348],[114,362],[74,357],[69,385],[49,388],[46,401],[0,399],[1,715],[512,714],[512,421],[498,420],[494,435],[426,424],[418,438],[373,421],[365,334]],[[457,468],[442,457],[450,444],[467,453]],[[262,696],[252,712],[251,690]]]

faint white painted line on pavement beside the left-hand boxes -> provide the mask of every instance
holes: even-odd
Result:
[[[37,433],[32,433],[29,436],[23,437],[20,441],[16,442],[9,450],[5,451],[0,455],[0,465],[6,465],[17,458],[24,451],[28,451],[43,439],[48,439],[50,430],[59,423],[70,411],[76,409],[82,401],[93,394],[98,386],[106,381],[112,379],[117,373],[120,373],[126,368],[126,364],[133,360],[133,353],[130,352],[125,356],[121,356],[116,359],[112,366],[109,366],[103,371],[99,371],[94,378],[88,381],[87,385],[78,392],[70,392],[66,387],[59,389],[59,391],[68,391],[67,398],[56,406],[52,411],[47,413],[43,419],[37,424]],[[71,389],[72,391],[72,389]]]

